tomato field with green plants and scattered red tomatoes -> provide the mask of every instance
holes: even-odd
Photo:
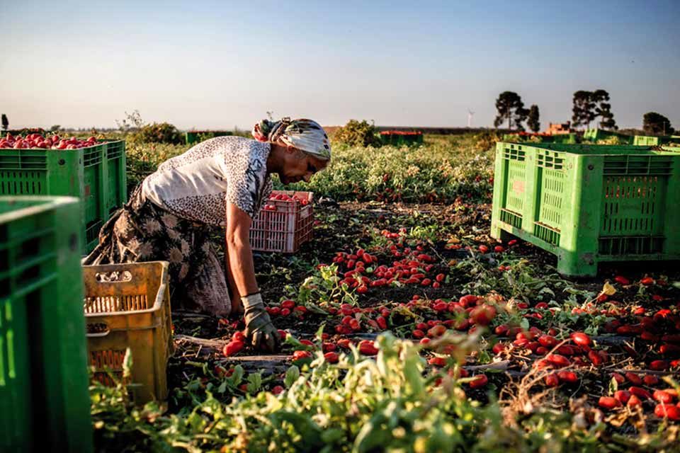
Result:
[[[255,254],[283,350],[174,312],[168,401],[95,384],[98,451],[680,451],[680,267],[568,280],[550,253],[492,239],[498,139],[334,144],[293,185],[314,193],[312,241]],[[128,144],[128,190],[186,149]]]

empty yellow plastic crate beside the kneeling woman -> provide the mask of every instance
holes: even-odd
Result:
[[[132,376],[124,382],[135,403],[164,400],[166,367],[174,351],[168,263],[84,266],[85,320],[94,379],[106,385],[109,373],[123,379],[125,350],[132,352]]]

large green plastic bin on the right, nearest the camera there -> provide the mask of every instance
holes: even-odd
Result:
[[[680,259],[680,155],[650,147],[510,144],[496,149],[491,235],[557,255],[557,270]]]

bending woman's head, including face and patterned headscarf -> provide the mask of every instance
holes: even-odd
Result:
[[[278,173],[284,184],[309,182],[331,159],[328,135],[312,120],[262,120],[254,125],[252,134],[260,142],[271,143],[271,171]]]

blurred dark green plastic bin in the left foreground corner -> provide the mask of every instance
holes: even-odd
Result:
[[[0,197],[0,451],[90,452],[80,202]]]

